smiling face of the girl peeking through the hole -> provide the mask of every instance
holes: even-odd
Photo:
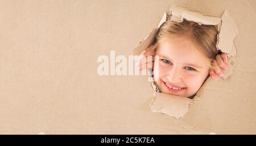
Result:
[[[156,55],[159,58],[155,58],[154,79],[162,93],[191,97],[208,76],[207,58],[188,38],[159,44]]]

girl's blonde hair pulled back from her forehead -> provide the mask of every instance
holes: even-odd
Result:
[[[195,22],[189,22],[183,20],[178,23],[172,21],[169,17],[162,27],[159,28],[159,32],[156,35],[155,47],[160,43],[175,37],[189,37],[193,43],[197,46],[197,49],[202,53],[209,61],[209,67],[212,68],[212,62],[218,54],[216,48],[218,31],[214,25],[199,25]]]

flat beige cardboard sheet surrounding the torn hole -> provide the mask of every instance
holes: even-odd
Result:
[[[187,130],[168,115],[150,112],[152,92],[146,76],[97,75],[98,55],[109,56],[110,50],[131,55],[168,11],[170,0],[1,0],[0,134],[255,134],[256,3],[210,2],[174,1],[208,15],[220,16],[227,8],[237,22],[238,62],[246,72],[236,72],[234,79],[247,92],[230,90],[224,98],[225,91],[216,88],[217,94],[214,89],[208,94],[217,98],[204,103],[211,103],[212,109],[217,106],[210,101],[224,103],[221,110],[241,111],[240,118],[232,118],[237,113],[230,111],[222,120],[210,112],[217,124],[203,124],[201,132]],[[240,85],[227,82],[222,89],[234,86]],[[217,101],[220,98],[224,101]]]

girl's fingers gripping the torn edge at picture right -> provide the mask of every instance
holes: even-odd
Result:
[[[223,72],[221,71],[221,68],[224,70],[228,70],[228,56],[226,53],[221,53],[216,56],[216,59],[213,61],[213,69],[210,69],[210,76],[212,79],[216,78],[216,75],[223,76]]]

